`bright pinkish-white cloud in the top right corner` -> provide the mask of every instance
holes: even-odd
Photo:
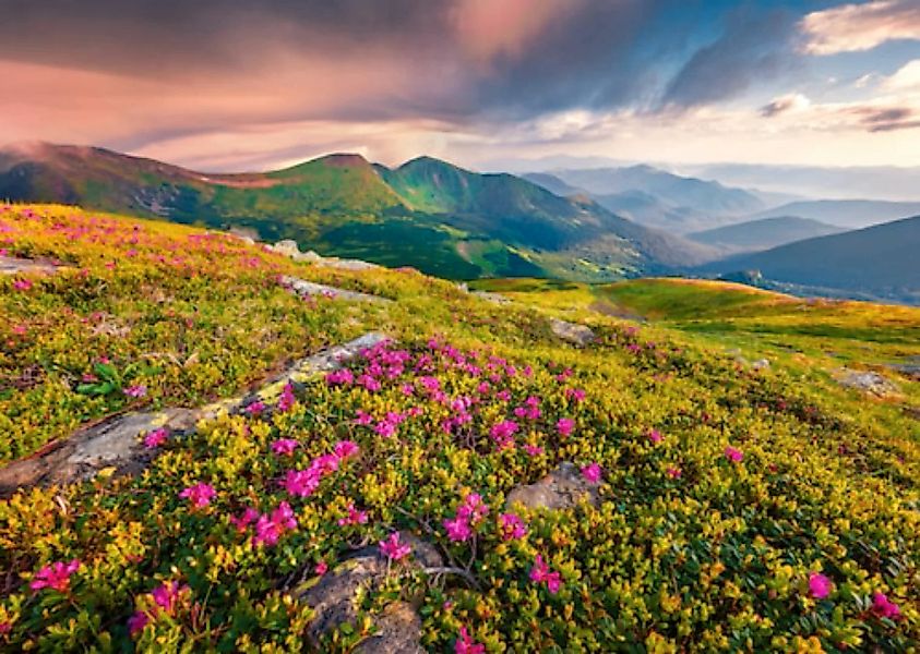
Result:
[[[895,39],[920,39],[917,0],[872,0],[816,11],[802,19],[804,51],[835,55],[871,50]]]

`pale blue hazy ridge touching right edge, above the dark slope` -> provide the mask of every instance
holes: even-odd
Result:
[[[860,228],[907,218],[920,214],[920,202],[884,199],[814,199],[793,202],[765,211],[754,218],[798,216],[840,227]]]

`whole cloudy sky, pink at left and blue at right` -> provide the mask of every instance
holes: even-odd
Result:
[[[0,0],[0,144],[920,166],[920,0]]]

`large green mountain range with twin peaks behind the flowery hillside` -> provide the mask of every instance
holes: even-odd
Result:
[[[511,174],[421,157],[390,169],[330,155],[266,173],[204,174],[74,146],[0,150],[0,199],[79,204],[261,238],[447,278],[608,279],[709,261],[716,251]]]

